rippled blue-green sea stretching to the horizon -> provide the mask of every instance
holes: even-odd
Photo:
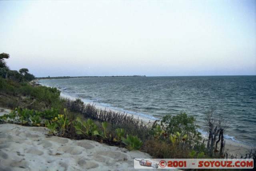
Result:
[[[63,94],[152,120],[181,111],[205,134],[204,113],[228,122],[225,138],[256,145],[256,76],[99,77],[46,79]]]

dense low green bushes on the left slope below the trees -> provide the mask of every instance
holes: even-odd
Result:
[[[32,86],[27,82],[18,83],[10,79],[0,78],[0,92],[3,94],[3,99],[0,100],[0,105],[3,107],[15,108],[21,105],[37,110],[52,107],[64,108],[64,100],[60,98],[60,91],[57,88]],[[26,96],[26,98],[22,96]],[[14,105],[10,105],[12,100],[14,100]],[[7,101],[8,103],[6,103]]]

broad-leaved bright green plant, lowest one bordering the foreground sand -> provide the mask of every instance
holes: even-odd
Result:
[[[133,149],[140,149],[142,146],[142,141],[137,136],[132,136],[132,135],[126,135],[126,138],[122,137],[122,142],[126,144],[126,148],[128,150],[133,150]]]

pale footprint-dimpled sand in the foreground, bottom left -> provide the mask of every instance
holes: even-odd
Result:
[[[0,124],[0,170],[134,170],[134,158],[150,158],[140,151],[47,133],[44,127]]]

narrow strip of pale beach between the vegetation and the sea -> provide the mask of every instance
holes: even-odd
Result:
[[[35,80],[34,81],[34,84],[39,84],[41,85],[40,83],[38,83],[39,80]],[[45,86],[45,85],[43,85]],[[59,88],[58,88],[59,89]],[[60,93],[60,97],[61,98],[70,98],[71,100],[76,100],[76,97],[73,97],[73,96],[70,96],[70,95],[67,95],[67,94],[64,94],[62,93],[62,90],[59,89],[61,91]],[[134,119],[138,119],[138,120],[142,120],[143,122],[154,122],[155,120],[154,119],[149,119],[149,118],[146,118],[146,117],[143,117],[141,115],[138,115],[138,114],[130,114],[128,112],[124,112],[122,110],[118,110],[118,109],[113,109],[113,108],[110,108],[110,107],[107,107],[107,106],[102,106],[100,104],[97,104],[95,102],[90,102],[90,101],[86,101],[84,99],[81,99],[84,104],[94,104],[95,107],[97,109],[102,109],[102,110],[112,110],[114,112],[121,112],[121,113],[125,113],[129,116],[134,116]],[[202,133],[201,133],[202,134]],[[203,135],[202,134],[202,138],[205,139],[205,143],[207,143],[207,135]],[[228,155],[237,155],[237,156],[245,156],[246,153],[248,153],[251,149],[256,149],[256,146],[251,146],[251,145],[247,145],[247,144],[244,144],[244,143],[239,143],[239,142],[236,142],[236,141],[233,141],[233,140],[229,140],[229,139],[225,139],[226,141],[226,144],[225,144],[225,151],[228,150]]]

